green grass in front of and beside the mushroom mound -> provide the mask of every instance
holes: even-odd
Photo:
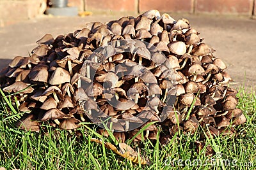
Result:
[[[176,134],[172,141],[161,146],[158,141],[145,140],[141,145],[131,143],[132,148],[150,159],[150,165],[133,164],[102,145],[90,142],[90,138],[102,138],[93,125],[79,128],[82,135],[76,137],[68,131],[19,131],[12,126],[19,112],[0,103],[0,167],[6,169],[255,169],[256,168],[256,97],[255,92],[239,90],[238,108],[247,118],[244,125],[236,127],[233,138],[205,139],[216,155],[205,155],[206,147],[196,152],[195,142],[202,129],[195,134]],[[15,114],[15,116],[11,116]],[[47,125],[45,125],[47,126]],[[88,128],[89,127],[89,128]],[[179,138],[178,138],[179,137]],[[113,136],[112,136],[113,138]],[[104,141],[115,144],[111,136]],[[217,155],[220,156],[220,155]],[[214,159],[214,160],[213,160]],[[194,162],[194,164],[193,164]],[[201,162],[201,164],[200,164]],[[229,164],[228,164],[229,162]],[[236,166],[233,164],[236,163]],[[180,163],[180,164],[179,164]],[[198,164],[197,164],[198,163]],[[182,166],[183,164],[183,166]],[[225,166],[225,164],[227,166]]]

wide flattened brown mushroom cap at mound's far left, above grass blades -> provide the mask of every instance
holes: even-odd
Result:
[[[26,83],[22,81],[15,81],[15,83],[13,83],[12,85],[8,87],[4,87],[3,91],[14,92],[14,93],[19,92],[19,94],[27,94],[27,93],[33,92],[34,89],[32,87],[29,87]]]

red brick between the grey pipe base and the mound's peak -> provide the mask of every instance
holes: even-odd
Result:
[[[136,11],[136,0],[86,0],[86,10]]]

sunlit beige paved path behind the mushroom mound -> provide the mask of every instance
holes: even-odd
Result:
[[[227,64],[227,72],[234,79],[232,87],[252,86],[256,89],[256,20],[206,15],[172,15],[188,18],[192,27],[200,32],[204,42],[211,45],[217,57]],[[36,40],[44,34],[74,32],[86,22],[107,22],[122,16],[92,15],[88,17],[41,17],[0,28],[0,67],[16,55],[28,56]]]

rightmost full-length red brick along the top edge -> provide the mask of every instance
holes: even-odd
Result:
[[[250,15],[252,0],[196,0],[196,13]]]

